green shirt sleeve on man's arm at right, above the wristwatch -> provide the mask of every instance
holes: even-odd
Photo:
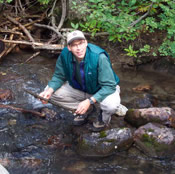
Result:
[[[93,95],[97,102],[101,102],[116,90],[117,82],[111,64],[105,54],[101,54],[99,57],[98,83],[101,88]]]

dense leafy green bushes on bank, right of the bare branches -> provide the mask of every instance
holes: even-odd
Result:
[[[142,53],[175,58],[175,1],[173,0],[87,0],[86,8],[73,1],[73,8],[84,18],[74,28],[82,28],[92,35],[107,32],[109,40],[127,45],[126,54],[138,57]],[[84,14],[87,15],[84,15]],[[137,45],[140,36],[160,34],[161,43]],[[126,44],[127,43],[127,44]]]

